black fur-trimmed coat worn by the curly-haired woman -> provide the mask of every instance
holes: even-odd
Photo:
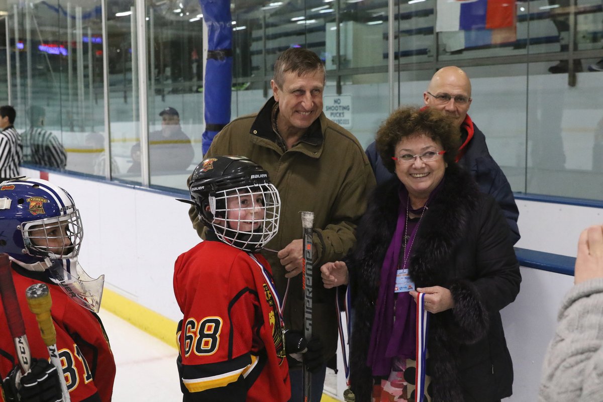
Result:
[[[366,365],[381,266],[396,230],[400,181],[375,189],[347,260],[355,309],[350,382],[356,402],[370,402]],[[451,164],[412,244],[409,274],[417,287],[450,289],[455,307],[431,314],[428,375],[432,402],[487,402],[511,395],[513,366],[499,310],[515,300],[521,275],[509,228],[493,198]]]

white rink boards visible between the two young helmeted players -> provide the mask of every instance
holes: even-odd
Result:
[[[38,171],[23,169],[30,177]],[[142,187],[49,173],[74,198],[84,226],[80,263],[105,286],[174,321],[180,309],[172,289],[175,259],[200,239],[187,204]]]

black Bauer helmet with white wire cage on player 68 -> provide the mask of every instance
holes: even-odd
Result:
[[[246,157],[203,160],[189,190],[199,219],[224,243],[254,253],[279,229],[279,192],[268,172]]]

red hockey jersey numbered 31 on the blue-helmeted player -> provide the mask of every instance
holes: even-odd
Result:
[[[57,350],[72,402],[109,402],[115,380],[115,360],[109,346],[101,319],[86,310],[51,283],[44,272],[27,271],[16,264],[13,268],[14,287],[17,292],[25,333],[30,344],[31,357],[48,359],[48,349],[40,336],[36,316],[30,312],[25,289],[32,284],[46,283],[52,298],[51,315],[57,331]],[[8,330],[4,306],[0,301],[0,375],[17,364],[13,339]]]

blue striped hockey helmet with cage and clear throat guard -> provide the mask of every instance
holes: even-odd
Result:
[[[74,199],[46,180],[0,183],[0,253],[30,271],[48,271],[72,300],[98,312],[104,275],[92,279],[77,262],[84,230]]]

